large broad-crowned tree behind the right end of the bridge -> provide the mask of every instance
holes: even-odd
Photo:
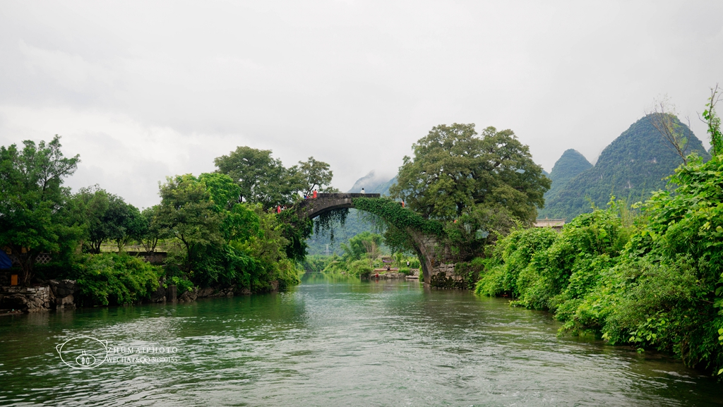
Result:
[[[451,221],[482,205],[531,223],[544,205],[549,179],[512,130],[487,127],[478,137],[474,124],[442,124],[413,148],[390,194],[424,218]]]

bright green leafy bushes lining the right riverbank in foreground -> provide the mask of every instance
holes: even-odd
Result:
[[[476,292],[547,309],[562,331],[723,367],[723,155],[690,158],[633,220],[625,205],[579,215],[560,234],[515,231]],[[723,371],[721,371],[723,372]],[[720,372],[719,372],[720,373]]]

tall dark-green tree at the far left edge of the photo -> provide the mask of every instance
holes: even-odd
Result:
[[[80,155],[64,157],[60,137],[38,145],[30,140],[0,147],[0,247],[7,247],[22,268],[22,283],[30,283],[38,254],[56,252],[67,230],[61,207],[69,195],[61,187],[72,175]]]

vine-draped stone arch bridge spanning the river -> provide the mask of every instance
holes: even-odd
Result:
[[[373,213],[390,226],[408,236],[422,263],[424,283],[429,284],[432,270],[449,262],[450,250],[440,244],[444,233],[442,223],[422,218],[418,213],[402,207],[401,202],[382,198],[380,194],[317,194],[316,198],[295,205],[299,218],[313,219],[333,210],[355,208]]]

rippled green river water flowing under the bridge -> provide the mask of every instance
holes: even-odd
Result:
[[[723,386],[703,372],[658,354],[558,338],[557,327],[503,299],[321,275],[278,294],[2,317],[0,405],[723,403]],[[56,346],[83,335],[116,351],[93,369],[64,364]]]

